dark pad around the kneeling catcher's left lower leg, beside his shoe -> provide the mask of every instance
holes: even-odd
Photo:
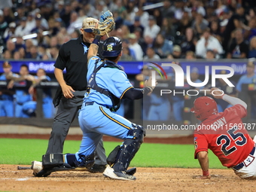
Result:
[[[54,166],[62,166],[63,154],[44,154],[42,157],[43,168],[51,168]]]

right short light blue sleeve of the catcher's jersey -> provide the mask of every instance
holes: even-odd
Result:
[[[118,72],[115,72],[114,75],[111,76],[112,83],[109,84],[108,90],[113,93],[114,96],[122,99],[124,93],[133,88],[133,85],[128,80],[125,72],[119,69],[117,70]]]

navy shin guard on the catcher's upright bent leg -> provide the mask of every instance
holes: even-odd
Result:
[[[126,139],[123,141],[123,145],[118,149],[118,151],[117,148],[115,148],[114,151],[111,152],[111,154],[117,154],[113,166],[115,172],[126,171],[131,160],[133,160],[133,157],[142,145],[145,131],[142,126],[133,124],[133,127],[135,128],[128,132]],[[111,154],[108,156],[108,163],[113,160],[113,158],[111,158]]]

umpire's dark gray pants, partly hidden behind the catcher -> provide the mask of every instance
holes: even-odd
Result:
[[[46,154],[62,153],[64,141],[69,133],[69,126],[81,108],[84,93],[85,91],[76,90],[73,92],[74,97],[72,99],[66,99],[62,96],[56,116],[54,117]],[[107,164],[102,139],[96,148],[95,163],[98,165]]]

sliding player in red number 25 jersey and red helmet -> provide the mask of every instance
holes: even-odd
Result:
[[[215,99],[223,99],[233,106],[218,113],[214,99],[201,96],[194,101],[191,112],[202,121],[194,132],[194,157],[199,160],[203,170],[200,178],[211,178],[209,148],[223,166],[232,168],[240,178],[256,179],[255,139],[251,139],[245,123],[242,123],[242,118],[247,114],[246,103],[226,94],[221,95],[221,90],[215,87],[211,89],[211,93]]]

